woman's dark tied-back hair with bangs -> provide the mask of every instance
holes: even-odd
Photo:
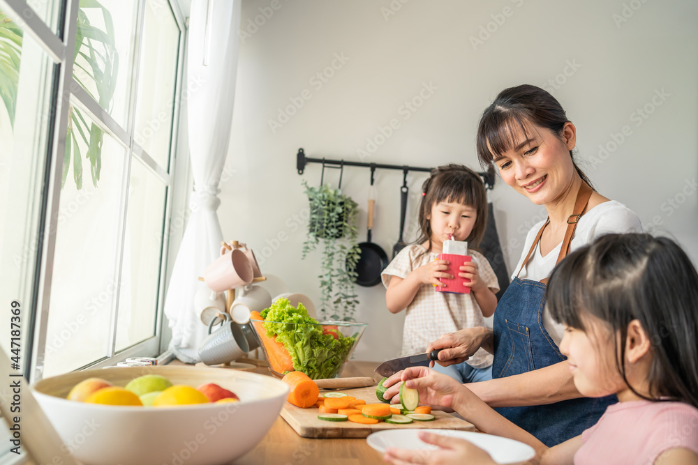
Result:
[[[549,129],[561,137],[565,123],[569,121],[560,102],[540,87],[522,84],[504,89],[485,109],[477,127],[480,165],[493,173],[493,160],[516,145],[514,134],[521,130],[528,138],[527,123]],[[593,188],[584,171],[574,162],[571,150],[570,158],[582,180]]]

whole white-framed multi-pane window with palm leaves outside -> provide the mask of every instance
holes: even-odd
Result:
[[[183,43],[168,0],[0,0],[0,294],[32,382],[161,351]]]

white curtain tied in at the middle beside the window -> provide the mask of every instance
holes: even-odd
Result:
[[[240,25],[240,0],[193,0],[189,18],[187,75],[199,82],[188,94],[189,153],[194,178],[189,216],[165,298],[172,328],[170,351],[186,363],[199,361],[207,328],[194,314],[198,277],[220,254],[218,183],[228,152]]]

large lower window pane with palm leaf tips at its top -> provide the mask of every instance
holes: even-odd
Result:
[[[59,204],[44,376],[80,368],[110,353],[112,307],[119,291],[119,217],[126,149],[77,107],[70,111],[71,121],[84,121],[89,132],[83,138],[73,131],[66,141],[71,168]],[[90,146],[100,151],[91,153]],[[98,158],[100,172],[98,181],[85,180],[78,188],[78,160],[85,153]]]

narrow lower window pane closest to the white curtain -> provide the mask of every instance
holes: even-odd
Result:
[[[117,351],[155,335],[166,193],[162,181],[134,158],[121,264]]]

